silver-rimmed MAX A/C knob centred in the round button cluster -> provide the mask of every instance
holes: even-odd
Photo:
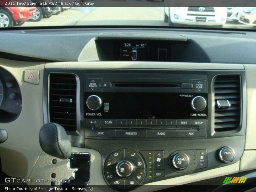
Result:
[[[133,172],[133,165],[130,161],[120,161],[116,165],[116,174],[121,178],[129,177]]]

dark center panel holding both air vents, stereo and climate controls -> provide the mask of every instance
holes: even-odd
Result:
[[[46,69],[44,77],[47,118],[73,146],[100,152],[114,189],[226,166],[243,154],[243,70]]]

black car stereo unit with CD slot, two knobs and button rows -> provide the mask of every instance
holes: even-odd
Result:
[[[207,75],[158,76],[85,74],[86,137],[205,138]]]

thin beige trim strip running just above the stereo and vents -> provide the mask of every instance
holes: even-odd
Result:
[[[244,70],[242,64],[179,63],[140,61],[90,61],[45,63],[45,68],[134,68],[134,69],[229,69]]]

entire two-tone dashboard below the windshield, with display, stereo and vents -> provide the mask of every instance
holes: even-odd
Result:
[[[99,191],[156,191],[256,168],[255,32],[0,34],[5,174],[40,180],[28,186],[74,182]],[[43,150],[46,135],[49,142],[53,135],[41,136],[40,129],[49,123],[65,129],[83,165]],[[62,182],[41,181],[53,178]]]

